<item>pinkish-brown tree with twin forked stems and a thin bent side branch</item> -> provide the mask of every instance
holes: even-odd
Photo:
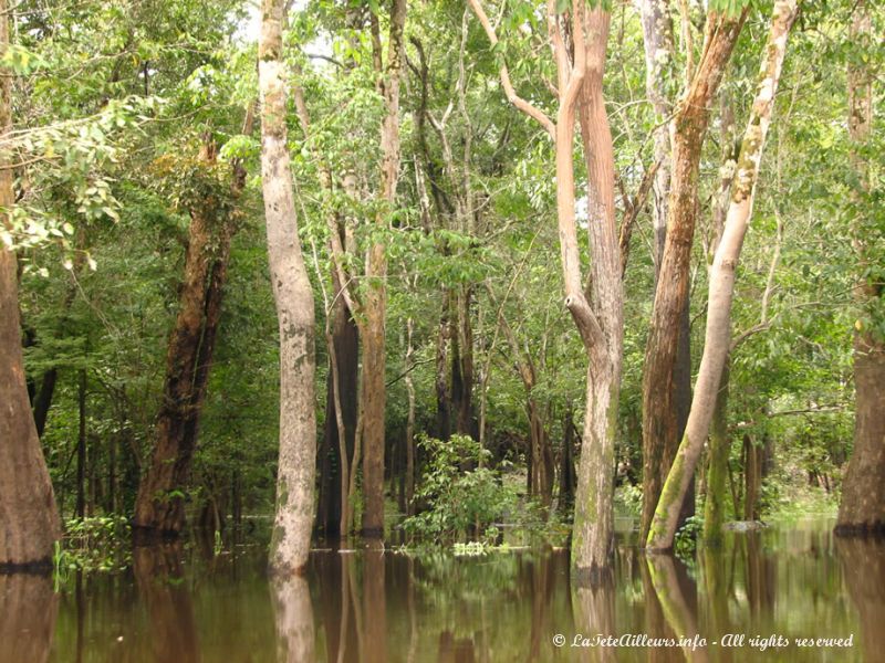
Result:
[[[470,7],[492,45],[498,36],[479,0]],[[555,122],[517,95],[506,64],[500,67],[508,99],[538,120],[553,138],[556,169],[556,218],[560,233],[565,307],[572,315],[587,358],[586,403],[577,494],[572,533],[572,567],[591,582],[610,568],[613,543],[613,478],[615,417],[623,343],[623,285],[621,250],[615,227],[612,136],[605,114],[602,80],[610,14],[603,7],[587,11],[577,0],[568,14],[548,2],[550,40],[556,64],[559,106]],[[575,44],[570,60],[563,31]],[[591,245],[591,291],[584,291],[575,221],[575,183],[572,143],[580,113],[587,164],[587,214]]]

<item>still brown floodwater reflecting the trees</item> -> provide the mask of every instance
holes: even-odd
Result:
[[[885,661],[885,546],[835,539],[831,526],[736,534],[690,568],[621,537],[614,582],[596,591],[570,586],[564,551],[316,550],[306,578],[270,582],[261,544],[143,548],[129,571],[72,576],[58,592],[0,577],[0,663]],[[729,633],[742,646],[723,646]],[[572,646],[596,634],[697,646]],[[771,635],[791,644],[753,646]],[[847,648],[793,642],[848,636]]]

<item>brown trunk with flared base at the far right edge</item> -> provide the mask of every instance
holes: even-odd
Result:
[[[872,48],[873,31],[866,0],[854,9],[851,41]],[[852,60],[848,66],[848,133],[861,146],[870,140],[873,128],[873,71],[867,63]],[[855,151],[852,161],[861,187],[870,189],[870,167]],[[858,193],[857,198],[861,197]],[[860,213],[865,207],[857,206]],[[882,261],[882,248],[864,236],[862,223],[852,228],[854,248],[861,269]],[[873,272],[873,270],[870,270]],[[881,273],[881,272],[879,272]],[[855,288],[858,304],[875,316],[882,316],[885,283],[866,277]],[[854,335],[854,453],[842,484],[836,533],[866,534],[885,532],[885,337],[874,325],[858,323]]]

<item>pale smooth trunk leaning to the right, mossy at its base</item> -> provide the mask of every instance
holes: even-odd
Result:
[[[688,486],[694,480],[695,467],[709,433],[710,420],[719,393],[719,382],[730,348],[735,272],[743,246],[743,236],[752,213],[759,161],[762,158],[762,149],[771,123],[774,95],[778,91],[783,57],[787,52],[787,38],[790,34],[790,28],[795,19],[796,11],[796,0],[777,0],[772,10],[771,28],[762,56],[759,87],[750,110],[749,125],[741,143],[722,239],[716,249],[716,256],[710,270],[704,355],[695,385],[691,412],[688,415],[685,434],[673,466],[667,474],[667,480],[652,520],[652,527],[648,532],[647,546],[652,549],[668,549],[673,547],[683,501],[688,492]],[[737,29],[739,29],[739,25]],[[700,70],[704,70],[704,67],[705,62],[701,60]],[[696,168],[697,161],[695,162]],[[671,199],[673,201],[675,199]],[[673,229],[674,227],[670,228]],[[690,236],[688,246],[690,246]],[[670,235],[668,234],[664,259],[665,266],[670,248]],[[657,307],[658,299],[656,298],[655,308],[657,309]],[[659,320],[662,318],[655,315],[655,319]],[[656,330],[653,328],[653,334],[655,333]],[[660,337],[659,332],[658,336]],[[653,351],[652,354],[657,355],[658,352]],[[660,367],[659,364],[656,366],[657,368]],[[653,385],[646,382],[645,388],[647,389],[644,391],[644,396],[650,396]]]

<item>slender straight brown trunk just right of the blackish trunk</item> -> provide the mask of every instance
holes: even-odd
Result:
[[[373,21],[377,17],[373,14]],[[386,115],[381,130],[381,189],[387,212],[396,202],[399,180],[399,77],[403,69],[403,27],[406,21],[406,0],[393,0],[385,71],[378,71]],[[377,25],[373,29],[377,34]],[[379,39],[377,40],[379,41]],[[377,44],[377,42],[376,42]],[[379,44],[376,62],[381,63]],[[387,213],[381,213],[376,223],[386,228]],[[369,248],[366,261],[365,333],[363,334],[363,535],[381,538],[384,535],[384,414],[386,408],[385,328],[387,308],[387,256],[384,243],[376,241]]]

